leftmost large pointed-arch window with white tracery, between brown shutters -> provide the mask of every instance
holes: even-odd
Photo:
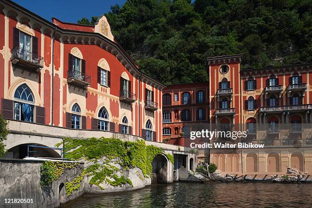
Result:
[[[14,100],[14,119],[34,122],[35,99],[26,84],[22,84],[16,89]]]

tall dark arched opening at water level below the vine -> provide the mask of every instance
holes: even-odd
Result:
[[[158,154],[152,161],[152,183],[167,184],[168,183],[168,160]]]

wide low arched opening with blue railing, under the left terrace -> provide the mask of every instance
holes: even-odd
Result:
[[[3,158],[8,159],[24,159],[27,157],[28,150],[29,157],[41,157],[41,158],[61,158],[61,155],[54,149],[40,148],[40,147],[28,147],[28,145],[36,145],[41,147],[46,147],[41,144],[26,143],[20,144],[15,147],[10,148]]]

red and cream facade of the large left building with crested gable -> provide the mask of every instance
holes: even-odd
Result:
[[[0,104],[9,120],[162,141],[162,89],[94,26],[49,22],[0,1]]]

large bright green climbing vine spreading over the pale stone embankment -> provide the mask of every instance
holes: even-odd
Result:
[[[152,145],[146,146],[144,140],[137,142],[123,142],[115,138],[90,138],[90,139],[69,139],[65,138],[64,144],[66,158],[73,161],[85,160],[86,167],[79,176],[65,184],[67,196],[79,190],[81,181],[85,176],[90,176],[90,185],[95,185],[100,189],[100,184],[111,186],[121,186],[132,181],[122,175],[123,170],[139,168],[142,171],[141,179],[151,177],[152,161],[157,154],[166,155],[168,160],[173,163],[171,154],[165,154],[160,147]],[[120,168],[116,167],[119,165]],[[121,175],[121,176],[120,176]]]

